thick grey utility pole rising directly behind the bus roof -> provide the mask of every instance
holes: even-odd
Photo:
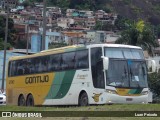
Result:
[[[46,1],[43,0],[43,35],[42,35],[42,50],[45,50],[46,38]]]

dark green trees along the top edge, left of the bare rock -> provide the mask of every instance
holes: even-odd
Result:
[[[33,0],[30,0],[32,3]],[[43,0],[35,0],[36,2],[43,2]],[[99,10],[103,9],[107,13],[112,11],[110,4],[111,0],[47,0],[48,6],[58,6],[63,10],[67,8],[79,10]]]

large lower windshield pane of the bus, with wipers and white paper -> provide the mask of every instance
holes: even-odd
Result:
[[[114,87],[148,87],[146,64],[144,61],[110,59],[106,80],[107,85]]]

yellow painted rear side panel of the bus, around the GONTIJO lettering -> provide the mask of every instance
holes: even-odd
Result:
[[[23,94],[25,97],[29,93],[31,93],[34,97],[34,101],[37,105],[43,104],[46,95],[48,94],[51,84],[53,83],[53,79],[55,74],[53,73],[46,73],[46,74],[36,74],[34,76],[49,76],[49,81],[48,82],[39,82],[39,83],[31,83],[31,84],[26,84],[25,79],[26,77],[33,77],[33,75],[26,75],[23,77],[10,77],[7,80],[7,92],[12,91],[12,93],[8,93],[8,96],[12,94],[13,96],[9,96],[10,98],[13,97],[13,102],[14,104],[17,104],[18,96],[20,94]],[[11,81],[14,81],[13,84],[9,84]]]

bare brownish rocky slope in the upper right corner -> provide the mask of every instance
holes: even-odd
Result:
[[[160,0],[111,0],[110,5],[119,15],[160,24]]]

